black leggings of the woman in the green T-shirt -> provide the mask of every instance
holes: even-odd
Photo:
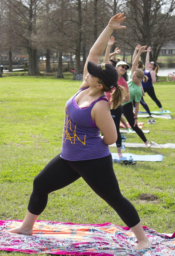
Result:
[[[139,137],[143,140],[143,142],[146,142],[147,139],[144,133],[142,132],[142,130],[137,126],[137,124],[134,126],[135,119],[134,119],[132,102],[129,102],[123,106],[123,114],[126,117],[131,128],[139,135]]]

